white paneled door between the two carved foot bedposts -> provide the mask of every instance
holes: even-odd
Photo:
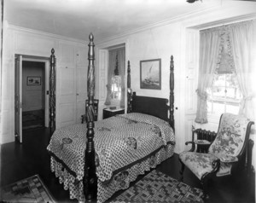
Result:
[[[87,48],[61,42],[57,62],[57,128],[81,123],[87,98]]]

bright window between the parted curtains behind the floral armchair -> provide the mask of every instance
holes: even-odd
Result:
[[[232,70],[232,57],[224,45],[217,73],[213,76],[212,87],[208,88],[207,109],[209,113],[238,113],[241,102],[241,91]]]

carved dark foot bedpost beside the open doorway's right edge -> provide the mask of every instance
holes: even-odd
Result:
[[[49,70],[49,135],[55,131],[55,98],[56,98],[56,70],[55,70],[55,49],[51,49],[50,70]]]

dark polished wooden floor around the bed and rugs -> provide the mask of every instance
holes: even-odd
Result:
[[[23,131],[22,144],[10,142],[1,145],[0,185],[13,183],[20,179],[38,174],[49,188],[57,202],[76,202],[68,198],[68,192],[58,183],[58,179],[49,170],[49,154],[46,151],[49,143],[47,129]],[[157,167],[167,175],[178,179],[180,163],[177,154]],[[199,181],[185,170],[184,183],[201,188]],[[247,178],[244,171],[234,177],[211,179],[209,182],[211,199],[208,202],[255,202],[255,178]],[[117,195],[117,194],[116,194]]]

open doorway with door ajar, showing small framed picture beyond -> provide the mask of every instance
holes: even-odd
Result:
[[[48,127],[49,58],[15,55],[15,136]]]

